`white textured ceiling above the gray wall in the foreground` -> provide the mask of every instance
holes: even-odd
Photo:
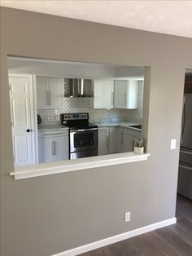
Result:
[[[192,1],[1,0],[1,6],[192,38]]]

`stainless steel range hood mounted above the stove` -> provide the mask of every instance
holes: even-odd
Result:
[[[70,78],[69,90],[65,97],[83,98],[91,97],[90,95],[91,80],[83,78]]]

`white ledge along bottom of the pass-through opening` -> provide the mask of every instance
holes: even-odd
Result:
[[[99,157],[79,158],[76,160],[56,161],[35,166],[15,167],[10,175],[15,179],[27,179],[50,174],[61,174],[74,170],[85,170],[102,166],[113,166],[134,161],[144,161],[150,156],[148,153],[136,154],[125,152]]]

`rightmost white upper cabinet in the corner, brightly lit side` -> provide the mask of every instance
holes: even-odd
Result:
[[[137,80],[116,80],[114,84],[113,108],[137,108],[137,95]]]

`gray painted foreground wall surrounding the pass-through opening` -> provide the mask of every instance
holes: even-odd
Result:
[[[37,256],[175,216],[181,105],[192,40],[1,8],[2,256]],[[149,161],[15,181],[7,54],[146,68]],[[147,132],[148,128],[148,132]],[[170,151],[170,139],[177,149]],[[124,212],[131,222],[124,223]]]

